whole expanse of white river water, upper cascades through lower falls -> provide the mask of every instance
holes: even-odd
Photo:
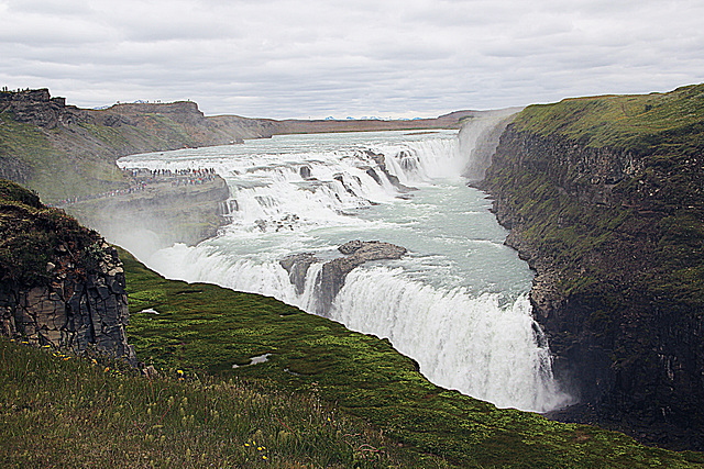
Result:
[[[161,273],[312,312],[322,263],[341,255],[337,246],[397,244],[409,255],[353,270],[326,314],[388,337],[443,387],[534,411],[569,399],[552,380],[549,349],[531,317],[531,272],[503,245],[506,232],[485,196],[464,185],[466,155],[455,134],[287,136],[119,163],[215,168],[237,201],[222,235],[143,259]],[[308,269],[300,292],[279,260],[304,252],[320,263]]]

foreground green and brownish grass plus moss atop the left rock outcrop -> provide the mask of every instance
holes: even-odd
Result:
[[[12,183],[0,186],[0,193],[8,255],[26,254],[22,243],[7,243],[33,236],[37,227],[44,237],[34,237],[43,242],[30,254],[41,256],[42,246],[51,254],[57,243],[74,250],[81,239],[82,250],[90,247],[89,232],[63,212],[41,206],[35,194]],[[120,256],[132,312],[129,340],[139,359],[162,377],[0,340],[3,466],[704,464],[700,454],[648,448],[623,434],[496,409],[430,383],[388,340],[272,298],[166,280],[129,253]],[[40,267],[45,261],[30,260]],[[38,269],[34,264],[24,268]],[[8,271],[18,267],[6,265]],[[267,361],[249,365],[265,354]]]

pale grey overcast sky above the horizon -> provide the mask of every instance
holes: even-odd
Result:
[[[704,81],[702,0],[0,0],[0,86],[435,116]]]

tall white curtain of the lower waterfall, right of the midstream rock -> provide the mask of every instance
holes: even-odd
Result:
[[[437,384],[498,406],[554,409],[563,395],[553,382],[550,350],[536,337],[530,302],[522,294],[502,305],[499,298],[432,288],[398,269],[358,269],[340,291],[332,319],[388,337]]]

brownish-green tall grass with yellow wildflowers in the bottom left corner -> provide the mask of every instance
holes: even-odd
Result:
[[[6,468],[419,467],[315,394],[177,370],[150,379],[7,338],[0,356]]]

